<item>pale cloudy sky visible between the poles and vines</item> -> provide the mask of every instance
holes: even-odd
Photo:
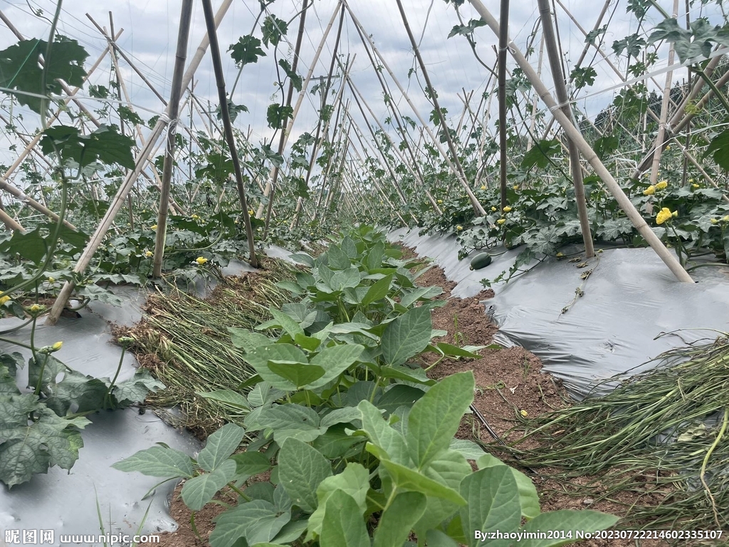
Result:
[[[472,106],[475,109],[480,94],[484,90],[491,89],[490,85],[488,88],[486,87],[489,74],[477,63],[463,37],[455,36],[448,39],[451,28],[459,24],[452,4],[446,4],[443,0],[402,0],[402,2],[410,26],[413,28],[413,33],[420,44],[421,55],[429,70],[434,87],[439,94],[441,106],[448,109],[451,122],[456,125],[463,109],[463,103],[459,95],[462,98],[464,96],[463,90],[466,90],[466,92],[475,90],[473,99],[475,104]],[[219,0],[213,0],[214,9],[217,9],[219,4]],[[499,1],[487,0],[485,4],[493,15],[498,18]],[[522,50],[525,50],[526,44],[531,40],[531,34],[537,20],[537,2],[536,0],[512,1],[511,4],[510,34],[515,43]],[[561,4],[564,5],[564,9],[560,4],[555,4],[558,31],[561,35],[566,66],[571,68],[577,58],[580,57],[584,47],[584,36],[578,24],[586,31],[590,31],[596,23],[603,2],[600,0],[561,0]],[[619,2],[612,0],[603,22],[603,24],[609,23],[605,35],[606,50],[609,52],[613,63],[623,71],[626,64],[625,58],[616,58],[612,54],[610,44],[636,31],[637,23],[626,15],[625,4],[625,0]],[[673,6],[673,2],[668,0],[661,0],[660,4],[669,12]],[[681,4],[684,4],[684,2],[681,2]],[[55,5],[55,1],[52,0],[0,0],[0,10],[12,21],[17,30],[28,38],[47,38]],[[273,4],[270,4],[269,9],[278,18],[291,20],[295,12],[300,9],[300,5],[300,0],[276,0]],[[319,44],[324,33],[324,27],[330,21],[337,5],[338,1],[336,0],[316,0],[313,7],[309,9],[301,54],[303,66],[300,66],[300,74],[305,74],[308,70],[316,45]],[[408,78],[410,69],[416,66],[416,61],[395,1],[350,0],[349,5],[367,34],[373,37],[376,46],[399,81],[408,89],[408,93],[421,115],[427,119],[432,106],[426,100],[421,90],[421,84],[416,77]],[[711,8],[701,7],[701,2],[697,1],[695,7],[691,10],[691,17],[700,16],[702,14],[701,9]],[[571,12],[577,23],[567,15],[566,10]],[[179,11],[179,0],[66,0],[63,2],[58,32],[77,39],[86,48],[89,53],[88,67],[104,50],[106,41],[86,14],[90,15],[98,25],[108,29],[110,26],[109,12],[112,12],[115,30],[118,32],[123,28],[122,36],[118,41],[120,47],[133,59],[136,66],[144,71],[144,74],[155,85],[157,91],[166,98],[170,93]],[[219,28],[219,42],[223,50],[228,90],[232,87],[238,70],[235,68],[230,55],[225,53],[225,50],[230,44],[237,42],[240,36],[249,34],[252,31],[255,36],[261,36],[260,24],[254,26],[258,11],[259,2],[257,0],[234,0]],[[467,3],[461,9],[461,14],[465,21],[477,18],[475,12]],[[679,12],[679,15],[683,17],[684,14]],[[655,10],[652,10],[647,17],[650,26],[660,20],[662,18]],[[291,44],[295,41],[297,25],[298,20],[295,19],[289,26],[288,37]],[[314,71],[315,76],[327,74],[332,58],[335,31],[336,23]],[[204,33],[205,23],[202,7],[200,2],[196,1],[188,59],[200,44],[200,39],[204,36]],[[478,28],[475,39],[477,40],[478,53],[483,61],[487,65],[493,66],[495,61],[493,47],[496,44],[494,35],[486,27]],[[15,36],[0,21],[0,50],[15,43],[15,41]],[[539,34],[537,34],[534,47],[537,52],[531,56],[531,61],[534,66],[537,66]],[[277,89],[273,85],[276,81],[273,49],[269,48],[265,51],[267,57],[260,59],[257,64],[248,65],[243,69],[233,95],[233,101],[236,104],[244,104],[249,109],[249,112],[242,113],[238,117],[236,125],[243,130],[247,130],[250,126],[252,140],[254,141],[270,139],[271,132],[266,127],[265,111],[270,102],[280,100],[280,93],[276,95]],[[375,111],[375,115],[383,121],[386,117],[386,106],[383,104],[381,88],[373,72],[373,66],[371,66],[366,53],[364,53],[356,28],[348,16],[345,18],[343,27],[340,53],[350,55],[351,58],[355,59],[351,68],[351,78],[366,98],[367,103]],[[587,59],[592,59],[593,55],[594,51],[590,50]],[[663,60],[659,62],[659,66],[661,63],[665,66],[665,56],[664,52]],[[292,46],[281,45],[278,58],[281,57],[290,60],[292,58]],[[512,66],[514,66],[514,63],[510,61],[510,67]],[[611,88],[620,83],[620,79],[609,68],[608,63],[600,57],[596,59],[594,66],[598,72],[596,84],[582,93],[582,96],[589,97],[578,102],[580,108],[591,115],[595,115],[602,106],[612,101],[613,96],[619,89]],[[108,85],[111,71],[112,66],[107,57],[93,74],[91,81],[96,84]],[[141,117],[146,120],[163,110],[160,101],[124,61],[122,61],[122,73],[128,86],[131,102]],[[542,74],[545,81],[551,81],[546,55]],[[685,77],[685,69],[674,74],[674,79],[681,79],[682,77]],[[656,80],[661,84],[664,79],[665,76],[663,75],[656,77]],[[206,55],[205,60],[200,65],[195,75],[195,81],[197,82],[196,95],[203,102],[209,100],[211,103],[217,104],[217,90],[209,55]],[[389,80],[389,85],[401,112],[414,118],[413,112],[405,103],[402,95],[397,92],[394,82]],[[549,86],[551,88],[551,84]],[[86,95],[86,93],[85,90],[82,94]],[[345,96],[350,97],[348,91]],[[7,98],[0,94],[0,99],[4,99],[4,102],[0,103],[0,110],[7,111]],[[101,106],[88,99],[85,102],[90,108]],[[312,131],[316,124],[317,115],[314,108],[318,107],[319,98],[308,93],[304,105],[302,113],[296,121],[295,136],[303,131]],[[351,109],[356,119],[361,120],[361,116],[356,112],[356,105],[352,104]],[[198,124],[199,118],[195,118],[192,123]],[[38,117],[27,114],[25,119],[22,120],[22,125],[26,131],[32,132],[38,126]],[[491,127],[493,127],[493,121]],[[364,125],[362,125],[362,128],[364,128]],[[7,140],[4,142],[0,140],[0,163],[7,163],[8,157]]]

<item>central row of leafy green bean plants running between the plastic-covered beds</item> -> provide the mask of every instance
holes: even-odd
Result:
[[[210,435],[197,459],[152,446],[114,467],[185,479],[193,517],[233,489],[238,504],[217,519],[213,547],[477,546],[497,531],[513,535],[499,545],[521,532],[520,546],[556,546],[615,524],[595,511],[540,513],[528,477],[454,438],[472,373],[436,382],[409,361],[478,348],[433,341],[444,334],[431,322],[441,290],[418,287],[416,261],[401,257],[366,227],[316,259],[295,255],[311,269],[279,283],[291,301],[253,330],[230,327],[256,374],[209,396],[243,411],[242,424]],[[564,533],[526,535],[537,530]]]

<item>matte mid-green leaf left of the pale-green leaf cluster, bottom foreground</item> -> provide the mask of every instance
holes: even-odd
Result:
[[[278,454],[278,479],[292,502],[307,513],[318,505],[316,489],[332,475],[332,465],[318,450],[295,438],[287,438]]]

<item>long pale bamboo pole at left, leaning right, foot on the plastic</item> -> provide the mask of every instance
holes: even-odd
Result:
[[[217,15],[215,16],[215,26],[220,24],[220,21],[222,21],[222,18],[225,17],[225,13],[230,8],[231,4],[233,4],[233,0],[223,0],[218,9]],[[195,71],[198,69],[198,66],[200,66],[200,61],[203,60],[203,56],[208,49],[209,43],[207,35],[200,41],[200,45],[198,46],[198,49],[195,50],[195,55],[192,56],[190,65],[187,67],[187,71],[182,78],[183,89],[187,89],[187,86],[190,85],[190,80],[195,74]],[[89,242],[86,244],[86,248],[82,252],[81,257],[79,257],[79,260],[74,267],[75,273],[82,274],[86,270],[94,253],[96,252],[96,249],[98,249],[99,245],[101,245],[101,241],[104,241],[106,232],[109,231],[109,228],[112,226],[112,222],[114,222],[114,219],[117,217],[120,209],[126,203],[127,195],[134,186],[144,164],[147,163],[147,158],[149,158],[149,154],[152,150],[154,150],[155,144],[157,144],[157,139],[160,138],[165,125],[168,123],[168,119],[168,113],[165,111],[164,115],[160,116],[159,120],[157,120],[155,128],[152,129],[152,133],[149,136],[149,140],[147,140],[147,144],[144,145],[144,148],[140,150],[136,156],[133,171],[130,171],[125,177],[124,182],[122,182],[119,190],[117,190],[117,195],[114,196],[112,203],[109,204],[109,209],[106,211],[104,218],[101,220],[98,228],[96,228],[93,236],[91,236]],[[55,325],[58,322],[58,317],[61,317],[63,306],[66,305],[66,302],[71,297],[71,292],[73,292],[75,286],[76,284],[73,282],[66,282],[66,284],[63,285],[63,289],[61,289],[61,292],[58,293],[58,298],[55,300],[53,308],[50,311],[50,315],[46,320],[46,325]]]

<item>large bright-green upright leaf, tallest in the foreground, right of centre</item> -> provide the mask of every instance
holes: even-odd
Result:
[[[446,376],[410,409],[408,450],[418,469],[448,449],[461,417],[473,402],[474,387],[472,371]]]

